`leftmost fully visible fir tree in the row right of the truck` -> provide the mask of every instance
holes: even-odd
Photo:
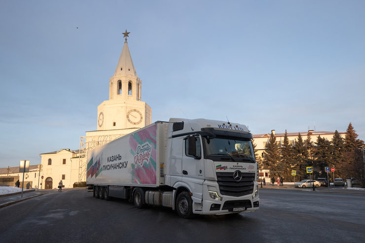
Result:
[[[271,133],[270,139],[266,143],[265,152],[263,155],[264,167],[270,170],[271,175],[278,174],[276,166],[279,159],[278,144],[276,143],[274,134]]]

